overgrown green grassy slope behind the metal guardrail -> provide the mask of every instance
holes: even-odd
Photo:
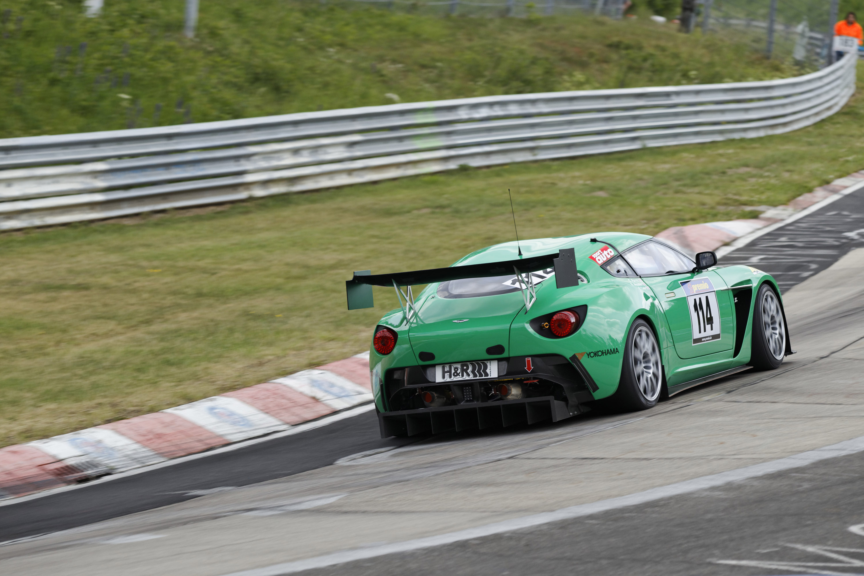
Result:
[[[0,137],[800,70],[644,17],[419,16],[360,3],[0,0]],[[390,95],[390,96],[388,96]]]

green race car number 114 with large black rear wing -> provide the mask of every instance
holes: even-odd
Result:
[[[793,353],[777,282],[716,263],[604,232],[497,244],[442,269],[355,272],[349,309],[372,307],[372,286],[400,302],[369,356],[382,437],[558,421],[600,400],[642,410],[777,368]]]

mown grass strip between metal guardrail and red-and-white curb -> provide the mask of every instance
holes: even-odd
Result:
[[[861,85],[859,85],[861,89]],[[860,93],[860,92],[859,92]],[[752,217],[864,164],[864,101],[782,136],[468,169],[0,234],[0,441],[34,440],[365,350],[355,269],[512,239]]]

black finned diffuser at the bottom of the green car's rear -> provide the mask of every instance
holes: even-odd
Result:
[[[381,412],[378,425],[381,438],[413,436],[424,432],[440,434],[449,431],[482,430],[514,424],[559,421],[570,417],[566,402],[553,396],[521,398],[502,402],[474,402],[437,408],[419,408],[399,412]]]

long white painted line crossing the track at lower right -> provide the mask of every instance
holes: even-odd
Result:
[[[661,498],[679,496],[689,494],[696,491],[714,488],[723,484],[739,482],[747,478],[757,478],[772,474],[774,472],[782,472],[792,468],[800,468],[819,462],[824,459],[836,458],[838,456],[847,456],[864,452],[864,436],[859,436],[853,440],[844,440],[830,446],[823,446],[815,450],[793,454],[786,458],[763,462],[762,464],[745,466],[728,472],[720,472],[719,474],[711,474],[700,478],[693,478],[658,486],[642,492],[628,494],[626,496],[607,498],[598,502],[579,504],[570,506],[551,512],[543,512],[541,514],[533,514],[530,516],[522,516],[521,518],[513,518],[503,522],[494,522],[485,526],[478,526],[456,532],[448,532],[446,534],[427,536],[425,538],[417,538],[416,540],[391,542],[380,546],[372,546],[366,548],[353,548],[349,550],[340,550],[333,554],[325,554],[308,558],[305,560],[295,560],[293,562],[285,562],[276,564],[270,567],[253,568],[241,572],[226,574],[225,576],[280,576],[281,574],[289,574],[310,570],[313,568],[329,567],[354,560],[364,560],[367,558],[375,558],[386,554],[397,554],[400,552],[409,552],[411,550],[419,550],[422,548],[433,548],[436,546],[445,546],[453,542],[471,540],[473,538],[481,538],[483,536],[501,534],[503,532],[511,532],[513,530],[527,529],[549,522],[558,522],[561,520],[570,520],[581,516],[590,516],[607,510],[617,510],[627,506],[653,502]],[[772,564],[779,564],[774,562]],[[850,565],[843,565],[850,566]],[[820,572],[818,570],[810,570],[810,573],[834,574],[833,572]]]

